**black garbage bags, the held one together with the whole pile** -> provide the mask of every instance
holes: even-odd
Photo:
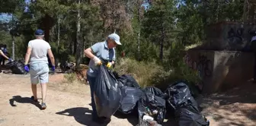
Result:
[[[160,126],[167,113],[174,115],[179,126],[210,124],[186,82],[170,84],[164,92],[156,87],[141,88],[131,75],[119,76],[104,65],[96,77],[94,101],[99,117],[110,118],[117,111],[124,115],[137,112],[138,126]]]

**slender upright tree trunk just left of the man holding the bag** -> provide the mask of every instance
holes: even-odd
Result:
[[[78,0],[78,4],[81,4],[81,1]],[[80,8],[78,8],[78,14],[77,14],[77,30],[76,30],[76,56],[75,56],[75,68],[79,68],[80,62],[81,62],[81,49],[82,49],[82,43],[81,43],[81,15],[80,15]]]

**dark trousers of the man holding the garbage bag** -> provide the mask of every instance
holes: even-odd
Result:
[[[96,110],[96,105],[94,102],[94,84],[95,84],[95,79],[96,77],[91,77],[87,74],[87,80],[89,81],[89,85],[90,85],[90,90],[91,90],[91,108],[92,108],[92,118],[93,119],[97,119],[98,118],[98,113]]]

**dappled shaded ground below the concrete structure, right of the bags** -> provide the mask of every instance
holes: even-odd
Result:
[[[245,83],[224,93],[205,96],[203,114],[213,118],[219,126],[256,123],[256,83]]]

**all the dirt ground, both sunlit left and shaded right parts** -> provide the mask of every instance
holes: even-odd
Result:
[[[91,122],[91,97],[85,84],[62,83],[62,74],[51,75],[46,102],[48,108],[42,111],[30,103],[29,75],[0,74],[0,80],[0,126],[98,125]],[[256,86],[247,88],[250,90],[236,89],[203,99],[203,114],[210,119],[211,126],[256,125]],[[37,89],[40,96],[40,86]],[[170,123],[165,122],[164,125],[172,126]],[[123,115],[112,116],[107,125],[136,124],[136,117]]]

